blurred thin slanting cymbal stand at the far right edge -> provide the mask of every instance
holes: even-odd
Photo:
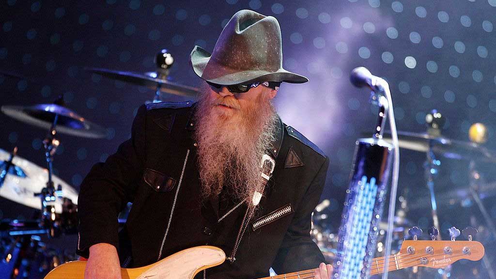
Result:
[[[469,165],[470,169],[470,194],[472,195],[472,199],[474,199],[475,203],[477,204],[477,207],[479,207],[479,210],[482,213],[482,216],[484,217],[484,220],[486,221],[486,226],[488,226],[490,233],[493,234],[493,236],[496,236],[496,226],[493,221],[493,218],[489,214],[488,210],[484,206],[484,203],[481,201],[479,198],[479,193],[477,193],[477,189],[479,188],[479,183],[481,180],[481,174],[477,171],[476,164],[474,160],[470,161]],[[493,269],[493,266],[491,265],[491,261],[488,258],[488,255],[484,255],[482,258],[482,261],[484,263],[484,266],[486,267],[488,271],[489,278],[491,279],[496,279],[496,273]]]

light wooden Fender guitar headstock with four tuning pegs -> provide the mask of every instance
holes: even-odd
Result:
[[[443,268],[462,259],[480,260],[484,246],[478,241],[405,240],[397,255],[401,268]]]

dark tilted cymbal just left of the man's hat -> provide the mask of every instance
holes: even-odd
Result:
[[[173,95],[196,97],[196,94],[198,93],[198,88],[182,85],[167,80],[166,78],[162,78],[161,74],[156,71],[140,73],[132,71],[108,70],[101,68],[86,68],[86,70],[101,74],[105,77],[109,77],[115,80],[121,80],[136,85],[146,86],[153,90],[157,90],[158,86],[160,86],[160,91]]]

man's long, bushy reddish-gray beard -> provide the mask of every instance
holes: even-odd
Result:
[[[219,195],[225,185],[231,198],[251,201],[260,191],[259,164],[275,139],[277,114],[268,99],[260,98],[241,118],[223,119],[213,111],[216,102],[203,94],[196,114],[202,200]]]

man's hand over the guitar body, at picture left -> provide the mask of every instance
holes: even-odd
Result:
[[[119,256],[114,245],[98,243],[90,247],[85,279],[122,279]]]

